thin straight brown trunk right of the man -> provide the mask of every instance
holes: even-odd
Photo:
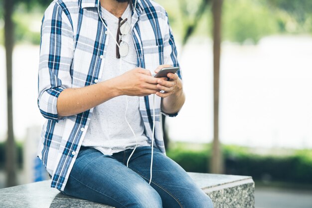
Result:
[[[221,49],[221,13],[222,1],[213,0],[213,145],[210,160],[211,173],[223,173],[224,164],[219,142],[219,77],[220,77],[220,49]]]

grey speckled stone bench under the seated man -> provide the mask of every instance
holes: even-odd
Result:
[[[211,198],[214,208],[254,208],[255,184],[250,176],[189,173]],[[50,180],[0,189],[0,208],[112,208],[61,194]]]

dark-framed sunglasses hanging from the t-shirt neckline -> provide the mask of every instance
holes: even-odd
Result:
[[[130,31],[130,25],[127,22],[128,18],[122,19],[121,17],[118,18],[118,29],[117,29],[117,36],[116,42],[116,58],[120,59],[120,57],[125,57],[129,53],[129,45],[125,41],[122,40],[122,35],[128,35]]]

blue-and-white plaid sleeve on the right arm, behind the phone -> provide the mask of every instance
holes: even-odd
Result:
[[[164,56],[163,64],[171,65],[173,67],[179,67],[172,29],[169,24],[168,14],[167,13],[165,14],[166,14],[166,24],[164,25],[164,38],[163,38],[163,56]],[[179,69],[176,73],[180,78],[180,80],[182,81],[181,69]],[[176,112],[174,114],[168,114],[161,110],[161,113],[169,117],[175,117],[179,112]]]

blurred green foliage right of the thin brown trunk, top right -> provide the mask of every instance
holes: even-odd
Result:
[[[225,0],[223,39],[257,43],[278,33],[311,33],[312,0]]]

